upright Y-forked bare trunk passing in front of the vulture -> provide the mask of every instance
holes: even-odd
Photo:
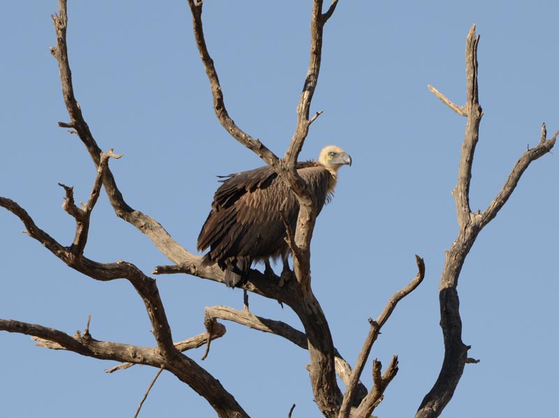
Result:
[[[279,177],[291,187],[297,196],[299,214],[295,245],[299,250],[293,252],[293,272],[298,284],[291,283],[290,288],[293,294],[291,303],[288,304],[296,312],[305,327],[311,361],[310,380],[315,400],[319,410],[326,417],[333,418],[337,416],[337,410],[342,400],[342,392],[337,387],[335,378],[334,345],[324,312],[310,289],[310,240],[317,217],[317,203],[313,201],[310,192],[298,175],[295,165],[310,126],[310,103],[319,76],[324,24],[332,15],[337,2],[333,3],[326,15],[322,15],[322,3],[322,0],[313,1],[310,61],[303,92],[297,106],[296,131],[291,138],[284,159],[280,161],[259,140],[255,140],[240,130],[228,116],[217,71],[205,44],[201,19],[203,3],[202,1],[188,0],[193,18],[194,38],[205,72],[210,80],[217,119],[233,138],[255,152],[266,161],[266,164],[274,168]]]

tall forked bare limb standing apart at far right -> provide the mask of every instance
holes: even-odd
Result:
[[[507,202],[528,165],[549,152],[555,145],[557,137],[556,134],[551,140],[546,140],[546,131],[543,127],[542,138],[537,147],[527,150],[517,161],[507,182],[504,183],[502,190],[495,196],[488,208],[483,213],[473,213],[470,210],[472,164],[479,138],[479,124],[483,116],[478,97],[478,43],[479,36],[476,36],[475,25],[472,25],[467,36],[465,52],[466,103],[463,110],[467,114],[466,131],[458,168],[458,183],[453,189],[460,228],[458,237],[447,251],[439,287],[444,359],[437,381],[423,398],[416,412],[416,418],[438,417],[452,398],[458,381],[462,377],[465,364],[475,362],[467,356],[470,346],[465,345],[462,341],[462,320],[460,319],[460,301],[457,290],[458,277],[465,257],[470,252],[481,229],[497,215],[500,208]]]

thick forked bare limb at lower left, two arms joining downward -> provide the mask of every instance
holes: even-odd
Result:
[[[129,280],[144,301],[147,315],[152,323],[152,333],[157,342],[157,349],[96,341],[92,340],[89,334],[70,337],[55,329],[6,319],[0,319],[0,331],[25,333],[50,340],[65,349],[97,359],[149,364],[158,368],[164,366],[166,370],[169,370],[194,391],[206,398],[220,417],[248,416],[218,380],[175,349],[155,280],[148,278],[136,266],[125,261],[101,264],[86,257],[75,257],[68,247],[63,247],[48,233],[38,228],[29,214],[17,203],[0,197],[0,206],[20,217],[31,238],[41,242],[48,250],[76,271],[95,280],[109,281],[119,278]],[[140,354],[138,354],[138,350],[140,350]],[[139,356],[139,359],[136,359],[136,356]],[[208,390],[208,387],[212,387],[212,389]]]

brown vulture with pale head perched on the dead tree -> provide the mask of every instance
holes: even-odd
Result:
[[[297,172],[318,203],[318,212],[331,200],[337,182],[337,170],[349,164],[351,157],[335,145],[324,147],[318,161],[299,161]],[[253,262],[263,261],[265,273],[273,273],[270,259],[281,258],[282,278],[289,273],[289,245],[286,228],[279,213],[284,201],[284,213],[291,231],[295,231],[299,204],[288,185],[270,166],[226,175],[219,180],[212,210],[198,236],[198,251],[210,251],[202,264],[217,263],[225,272],[228,287],[245,282]]]

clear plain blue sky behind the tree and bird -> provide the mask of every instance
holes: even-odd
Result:
[[[76,136],[57,127],[61,99],[50,14],[57,2],[12,1],[3,8],[0,64],[0,195],[14,199],[61,243],[73,240],[62,209],[62,182],[85,201],[94,166]],[[457,233],[450,194],[456,184],[465,118],[427,85],[458,104],[465,99],[464,46],[477,24],[479,96],[484,109],[470,201],[484,210],[546,122],[559,129],[556,16],[553,1],[344,1],[324,32],[321,75],[301,159],[330,143],[353,158],[335,199],[321,212],[312,242],[314,293],[337,349],[353,364],[387,299],[416,273],[426,278],[395,310],[372,349],[400,371],[377,408],[410,417],[442,363],[437,288]],[[69,1],[68,46],[75,94],[111,161],[126,201],[161,222],[187,250],[210,210],[216,175],[260,166],[235,143],[212,110],[210,89],[191,33],[186,1]],[[310,1],[206,1],[210,54],[233,120],[282,155],[296,125],[308,62]],[[472,345],[445,417],[549,417],[556,410],[559,291],[556,269],[558,164],[535,162],[507,205],[480,234],[458,291],[463,340]],[[143,303],[124,280],[96,282],[72,271],[21,233],[0,211],[0,317],[99,340],[153,345]],[[149,273],[166,259],[118,219],[104,194],[92,215],[87,257],[131,261]],[[203,332],[203,308],[242,307],[242,291],[188,276],[159,277],[159,290],[182,340]],[[300,329],[274,301],[251,298],[256,315]],[[201,365],[253,417],[319,417],[307,378],[307,352],[281,338],[225,324]],[[198,360],[203,349],[187,353]],[[112,363],[34,347],[27,336],[0,333],[0,403],[6,417],[130,417],[156,370],[135,366],[112,375]],[[363,382],[370,387],[370,364]],[[161,413],[163,411],[163,414]],[[187,412],[185,412],[187,411]],[[163,374],[142,417],[212,417],[203,398]]]

